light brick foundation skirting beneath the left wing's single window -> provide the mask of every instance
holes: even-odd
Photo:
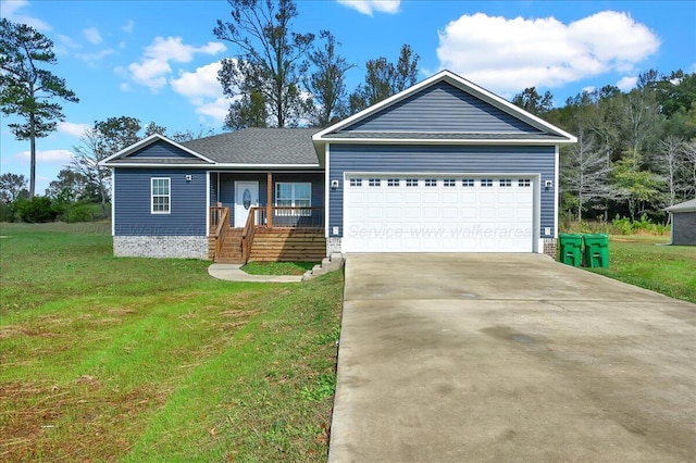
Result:
[[[206,236],[114,236],[116,258],[176,258],[208,260]]]

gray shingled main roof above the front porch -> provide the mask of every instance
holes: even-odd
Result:
[[[221,164],[318,165],[312,135],[318,128],[245,128],[183,142]]]

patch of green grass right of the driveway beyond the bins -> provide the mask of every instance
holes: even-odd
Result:
[[[696,303],[696,247],[659,246],[669,237],[611,236],[609,268],[592,272]]]

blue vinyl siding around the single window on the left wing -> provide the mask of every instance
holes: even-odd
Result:
[[[186,175],[191,180],[186,182]],[[150,179],[169,177],[171,213],[150,212]],[[207,236],[206,178],[190,168],[115,170],[115,224],[119,236]]]

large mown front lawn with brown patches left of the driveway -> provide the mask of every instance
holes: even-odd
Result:
[[[341,273],[220,281],[109,232],[0,225],[0,460],[325,461]]]

